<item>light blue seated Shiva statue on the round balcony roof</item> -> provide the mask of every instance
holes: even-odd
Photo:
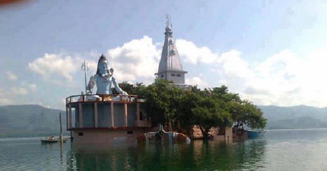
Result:
[[[96,87],[97,87],[96,94],[112,94],[111,85],[113,84],[115,86],[115,90],[119,94],[128,95],[118,86],[116,82],[116,78],[113,77],[112,74],[113,74],[113,69],[110,68],[110,71],[108,70],[108,60],[102,54],[98,61],[96,74],[90,77],[89,84],[87,85],[89,93],[92,94],[92,89],[96,83]]]

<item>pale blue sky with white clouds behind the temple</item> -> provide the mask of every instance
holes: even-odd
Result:
[[[83,89],[80,62],[88,60],[94,69],[101,53],[118,81],[150,83],[169,13],[189,84],[225,84],[258,105],[324,107],[326,11],[326,1],[31,1],[0,7],[0,105],[64,108],[62,99]]]

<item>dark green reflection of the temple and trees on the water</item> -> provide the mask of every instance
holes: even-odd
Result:
[[[256,169],[265,164],[265,139],[225,144],[73,145],[68,170],[216,170]],[[76,162],[75,162],[76,161]],[[75,165],[76,164],[76,165]]]

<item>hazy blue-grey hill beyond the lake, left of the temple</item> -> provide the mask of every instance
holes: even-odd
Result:
[[[59,112],[66,131],[66,112],[39,105],[0,106],[0,137],[59,136]]]

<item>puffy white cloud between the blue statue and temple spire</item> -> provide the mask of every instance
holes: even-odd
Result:
[[[152,82],[158,70],[161,50],[148,36],[134,39],[124,45],[109,49],[107,59],[114,69],[114,76],[121,81]],[[138,78],[138,79],[137,79]]]

